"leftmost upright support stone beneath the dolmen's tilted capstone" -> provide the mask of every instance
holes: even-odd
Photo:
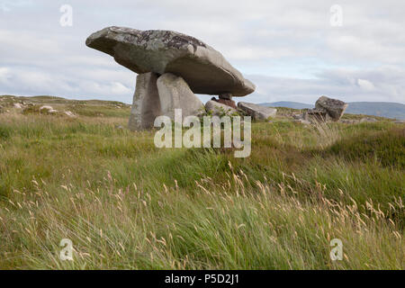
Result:
[[[157,91],[157,74],[149,72],[137,76],[137,85],[130,111],[130,130],[144,130],[153,127],[161,114]]]

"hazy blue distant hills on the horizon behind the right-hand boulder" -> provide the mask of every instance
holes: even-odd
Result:
[[[405,104],[392,102],[350,102],[348,104],[346,112],[350,114],[365,114],[405,120]],[[312,104],[289,101],[260,103],[260,105],[293,109],[307,109],[314,107]]]

